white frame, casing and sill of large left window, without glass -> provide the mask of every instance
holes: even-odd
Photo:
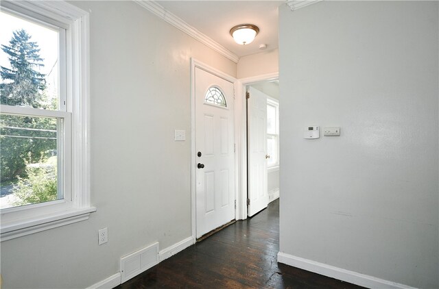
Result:
[[[64,1],[1,1],[1,10],[65,29],[65,63],[60,77],[60,110],[0,105],[1,112],[62,119],[64,199],[8,208],[1,214],[1,242],[88,219],[90,203],[89,25],[88,12]],[[62,36],[61,36],[62,37]],[[63,55],[64,56],[64,55]],[[62,69],[65,66],[65,69]],[[65,105],[64,105],[65,95]]]

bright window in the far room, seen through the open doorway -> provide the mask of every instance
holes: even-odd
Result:
[[[279,103],[267,99],[267,152],[268,168],[279,166]]]

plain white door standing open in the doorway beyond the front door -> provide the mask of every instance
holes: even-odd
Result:
[[[250,86],[248,114],[248,216],[267,208],[267,95]]]

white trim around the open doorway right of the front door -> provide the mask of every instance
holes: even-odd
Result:
[[[260,81],[278,80],[279,73],[268,73],[253,77],[237,79],[237,95],[235,101],[235,143],[237,146],[237,208],[236,219],[247,218],[247,118],[246,118],[246,86]],[[237,135],[238,134],[238,135]]]

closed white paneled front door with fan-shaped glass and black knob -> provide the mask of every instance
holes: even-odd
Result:
[[[195,67],[196,236],[235,220],[233,83]]]

